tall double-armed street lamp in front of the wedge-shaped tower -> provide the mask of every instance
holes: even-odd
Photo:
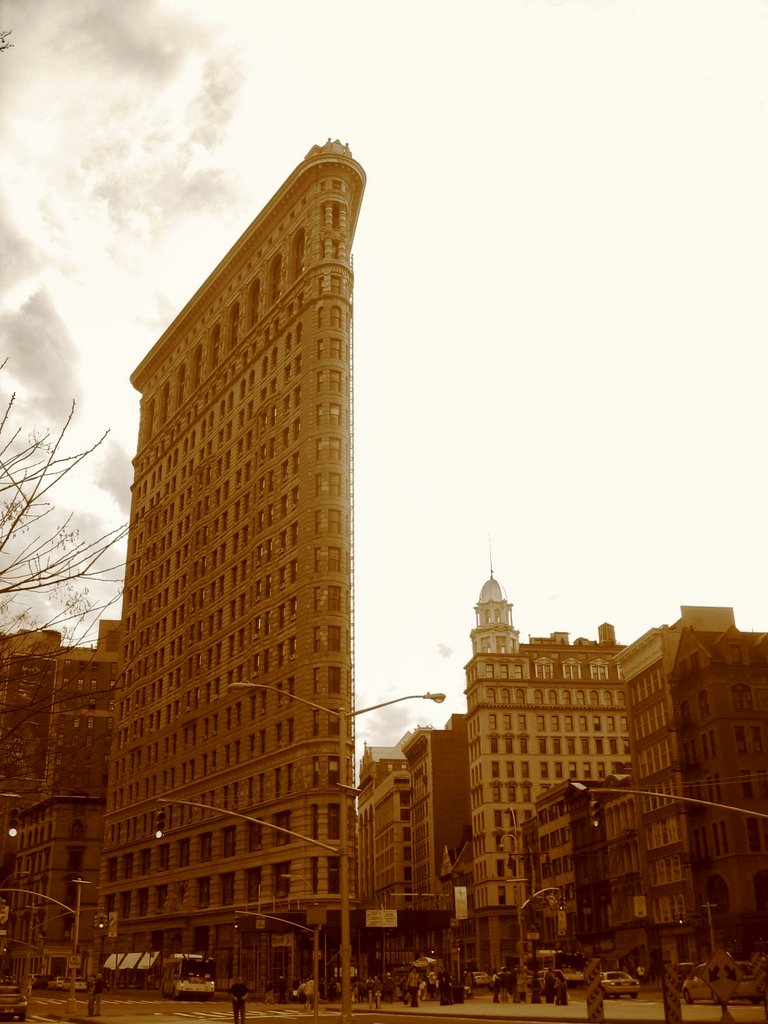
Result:
[[[348,784],[347,764],[347,739],[348,723],[358,715],[366,715],[370,711],[379,711],[380,708],[388,708],[390,705],[399,703],[401,700],[434,700],[435,703],[442,703],[445,699],[444,693],[409,693],[402,697],[393,697],[391,700],[382,700],[381,703],[372,705],[370,708],[358,708],[346,711],[344,708],[326,708],[324,705],[315,703],[306,697],[296,693],[290,693],[280,686],[272,686],[270,683],[242,682],[231,683],[229,689],[259,689],[272,690],[281,696],[290,700],[298,700],[299,703],[313,708],[315,711],[326,712],[328,715],[335,715],[339,719],[339,786],[341,788],[341,803],[339,805],[339,909],[340,909],[340,932],[341,945],[339,949],[339,963],[341,971],[341,1024],[349,1024],[352,1020],[352,987],[351,987],[351,934],[349,927],[349,818],[347,799],[351,792]]]

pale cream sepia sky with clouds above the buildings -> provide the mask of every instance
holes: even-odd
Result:
[[[465,710],[489,574],[522,639],[681,604],[768,630],[768,0],[0,0],[0,390],[110,435],[129,375],[315,143],[355,269],[356,720]],[[62,496],[63,497],[63,496]]]

